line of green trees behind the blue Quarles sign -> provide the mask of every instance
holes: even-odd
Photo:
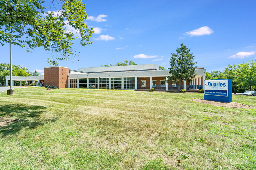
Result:
[[[232,79],[232,91],[243,93],[245,90],[256,90],[256,60],[228,65],[223,72],[207,72],[205,80]]]

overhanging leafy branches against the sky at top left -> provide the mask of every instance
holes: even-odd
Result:
[[[93,28],[88,29],[86,4],[82,0],[53,0],[52,6],[57,14],[46,12],[42,0],[0,0],[0,43],[26,47],[29,52],[35,47],[52,51],[48,63],[57,66],[56,60],[68,60],[75,56],[73,41],[79,37],[83,46],[89,40]],[[77,35],[68,28],[76,30]],[[59,56],[61,55],[61,56]]]

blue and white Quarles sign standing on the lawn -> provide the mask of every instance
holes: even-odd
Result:
[[[204,80],[204,99],[231,102],[232,80]]]

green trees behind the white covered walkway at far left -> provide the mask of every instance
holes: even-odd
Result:
[[[12,76],[39,76],[41,75],[36,70],[33,72],[29,71],[26,67],[22,67],[20,65],[13,65],[12,64]],[[6,83],[6,76],[10,76],[10,64],[1,63],[0,64],[0,84]],[[14,85],[20,85],[20,82],[14,81]],[[25,82],[22,82],[22,85],[25,85]]]

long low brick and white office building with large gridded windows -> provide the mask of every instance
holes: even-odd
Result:
[[[181,88],[197,91],[203,88],[205,69],[197,68],[196,77],[191,82],[181,82]],[[130,89],[130,90],[177,90],[179,81],[168,80],[168,71],[159,70],[157,64],[141,64],[130,66],[90,67],[70,70],[68,67],[44,67],[44,76],[18,77],[14,81],[38,82],[57,88],[95,88],[95,89]],[[10,77],[6,77],[8,86]]]

